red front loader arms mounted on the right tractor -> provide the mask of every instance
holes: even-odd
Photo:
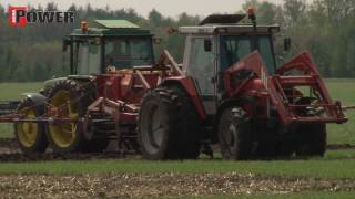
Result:
[[[301,75],[288,74],[293,70],[301,71]],[[239,74],[248,72],[243,81],[237,81]],[[258,83],[258,84],[256,84]],[[295,96],[297,86],[310,87],[317,94],[317,104],[302,104],[300,95]],[[251,95],[267,102],[270,108],[276,109],[283,124],[297,123],[344,123],[347,118],[338,102],[333,103],[327,88],[308,53],[303,53],[291,60],[271,76],[255,51],[245,59],[232,65],[224,74],[224,87],[229,97]],[[286,92],[286,91],[293,91]],[[298,98],[296,98],[298,97]],[[300,114],[300,109],[321,109],[321,114]],[[267,114],[268,115],[268,114]]]

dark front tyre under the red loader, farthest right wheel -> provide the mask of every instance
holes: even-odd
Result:
[[[325,124],[303,124],[296,133],[300,136],[296,155],[324,156],[326,148]]]

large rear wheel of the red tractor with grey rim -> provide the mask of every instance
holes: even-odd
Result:
[[[139,142],[145,159],[194,159],[200,155],[199,116],[180,87],[159,87],[142,100]]]

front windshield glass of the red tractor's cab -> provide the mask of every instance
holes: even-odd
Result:
[[[253,36],[221,36],[221,71],[239,62],[253,51]],[[257,36],[257,49],[263,56],[270,74],[275,72],[273,44],[270,35]]]

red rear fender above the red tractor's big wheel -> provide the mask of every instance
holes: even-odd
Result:
[[[200,95],[197,93],[197,90],[195,87],[195,84],[193,80],[189,76],[173,76],[165,78],[162,83],[162,86],[172,86],[178,85],[182,87],[187,95],[191,97],[191,101],[196,108],[196,112],[199,113],[201,119],[206,118],[206,112],[204,109],[204,106],[202,104],[202,101],[200,98]]]

